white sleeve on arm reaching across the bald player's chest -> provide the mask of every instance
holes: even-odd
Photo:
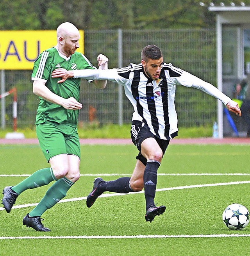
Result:
[[[125,80],[123,77],[118,75],[117,69],[82,69],[73,71],[74,78],[83,78],[87,80],[108,80],[112,82],[118,82],[124,84]]]

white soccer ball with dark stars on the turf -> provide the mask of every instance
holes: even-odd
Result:
[[[222,219],[229,229],[243,229],[249,223],[249,211],[241,204],[230,204],[223,211]]]

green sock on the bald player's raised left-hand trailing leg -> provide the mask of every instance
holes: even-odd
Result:
[[[23,191],[28,188],[38,188],[44,185],[49,184],[51,181],[56,181],[52,168],[44,168],[34,172],[27,179],[21,181],[16,186],[13,186],[11,189],[20,195]]]

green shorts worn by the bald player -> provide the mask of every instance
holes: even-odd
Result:
[[[36,125],[36,135],[47,161],[59,154],[80,158],[80,142],[77,128],[55,122]]]

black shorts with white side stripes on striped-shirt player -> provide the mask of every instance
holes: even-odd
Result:
[[[140,160],[143,163],[143,165],[146,166],[147,159],[141,154],[141,143],[147,138],[154,138],[157,141],[158,145],[160,146],[164,155],[170,140],[162,140],[157,138],[154,134],[152,134],[152,132],[150,132],[150,130],[147,127],[142,126],[139,123],[141,122],[138,122],[138,124],[131,125],[130,134],[132,142],[134,143],[134,145],[136,145],[137,149],[139,150],[139,154],[138,156],[136,156],[136,159]]]

